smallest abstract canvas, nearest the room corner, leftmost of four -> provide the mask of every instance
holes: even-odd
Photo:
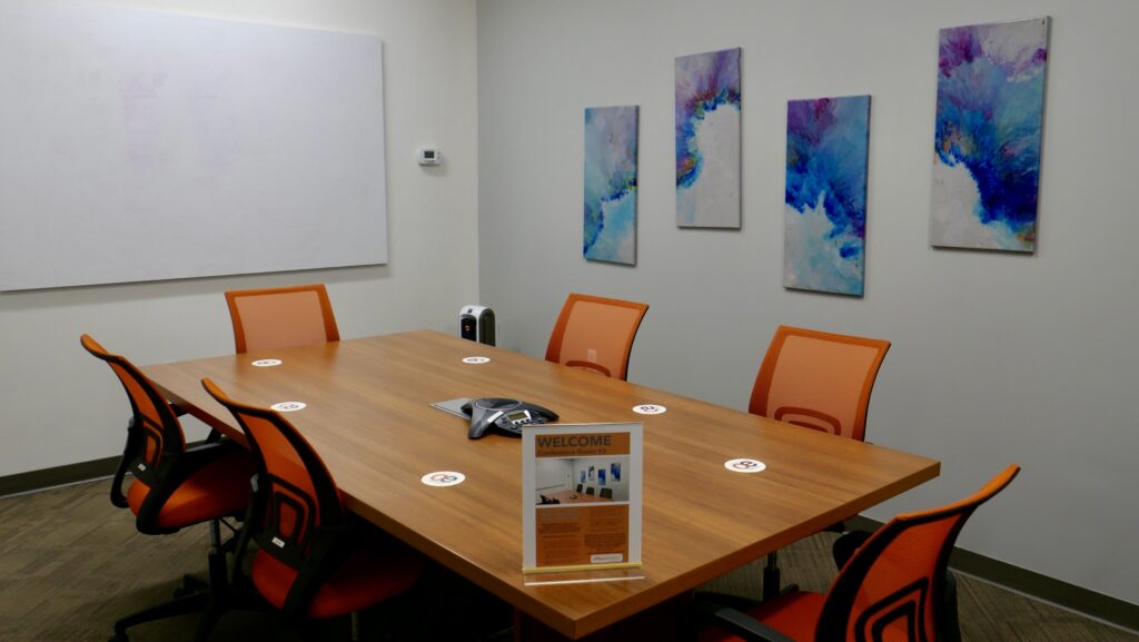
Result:
[[[589,260],[637,265],[637,107],[585,108]]]

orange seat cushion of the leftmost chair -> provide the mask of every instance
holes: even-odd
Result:
[[[166,499],[158,512],[158,528],[182,528],[227,515],[239,515],[249,498],[253,462],[249,454],[233,448],[223,457],[202,466]],[[136,515],[150,487],[136,479],[126,502]]]

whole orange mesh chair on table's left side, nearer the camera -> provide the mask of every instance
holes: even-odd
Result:
[[[236,564],[252,537],[252,580],[270,604],[289,618],[323,619],[411,587],[423,570],[419,555],[395,539],[366,539],[350,528],[331,474],[293,424],[274,411],[230,399],[208,379],[202,385],[233,414],[254,455],[254,494]]]

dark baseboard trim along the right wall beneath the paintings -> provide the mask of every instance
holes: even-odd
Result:
[[[846,520],[850,530],[877,530],[880,521],[858,515]],[[953,548],[949,566],[959,572],[1043,600],[1129,631],[1139,631],[1139,604],[1096,593],[1000,560]]]

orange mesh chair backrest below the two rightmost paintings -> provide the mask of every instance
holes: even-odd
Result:
[[[752,388],[752,414],[863,440],[890,342],[779,326]]]

